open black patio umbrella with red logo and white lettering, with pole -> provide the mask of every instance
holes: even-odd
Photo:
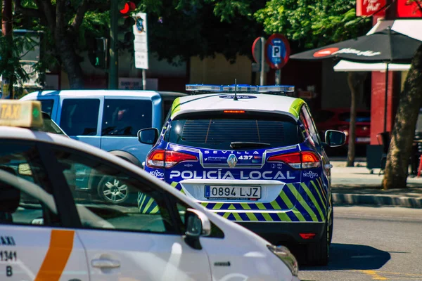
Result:
[[[296,60],[321,60],[341,58],[357,63],[385,63],[384,131],[387,130],[388,65],[410,63],[422,41],[413,39],[390,27],[373,34],[357,37],[336,44],[305,51],[290,58]]]

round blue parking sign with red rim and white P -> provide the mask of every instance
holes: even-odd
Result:
[[[279,70],[290,55],[288,40],[281,34],[272,34],[265,44],[265,59],[271,68]]]

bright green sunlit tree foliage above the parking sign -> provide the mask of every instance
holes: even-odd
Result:
[[[285,34],[300,49],[364,35],[370,18],[357,18],[356,1],[271,0],[255,13],[267,34]]]

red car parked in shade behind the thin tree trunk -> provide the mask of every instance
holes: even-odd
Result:
[[[350,109],[347,108],[333,108],[319,110],[312,114],[316,129],[318,129],[321,138],[324,138],[324,133],[328,129],[343,131],[349,141],[349,122]],[[356,112],[356,144],[369,144],[371,131],[371,111],[357,110]]]

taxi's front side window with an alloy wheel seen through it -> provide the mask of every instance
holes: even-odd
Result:
[[[84,228],[176,233],[165,192],[103,159],[53,148]],[[141,201],[141,208],[138,201]]]

